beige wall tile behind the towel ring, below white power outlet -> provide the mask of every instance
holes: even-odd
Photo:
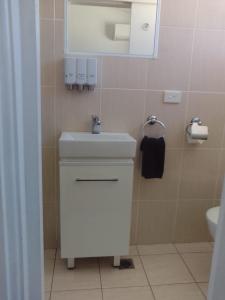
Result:
[[[186,94],[183,94],[180,104],[168,104],[163,102],[164,92],[147,92],[145,114],[155,115],[162,120],[166,129],[161,126],[146,126],[145,134],[159,137],[165,134],[167,147],[182,147],[184,141],[185,111],[187,104]]]

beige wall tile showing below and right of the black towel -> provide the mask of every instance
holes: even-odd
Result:
[[[165,172],[162,179],[141,178],[140,199],[144,201],[174,201],[178,197],[181,150],[166,151]]]

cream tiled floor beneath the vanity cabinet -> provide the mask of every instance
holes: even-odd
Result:
[[[78,259],[74,270],[56,250],[45,251],[46,300],[206,299],[211,243],[132,246],[135,269],[112,268],[112,258]]]

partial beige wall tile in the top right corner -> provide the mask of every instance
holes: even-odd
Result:
[[[225,3],[223,0],[200,0],[198,27],[225,29]]]

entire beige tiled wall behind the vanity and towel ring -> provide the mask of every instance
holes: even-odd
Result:
[[[98,88],[79,94],[63,84],[63,0],[41,1],[46,247],[58,237],[57,139],[63,130],[89,130],[93,113],[105,131],[127,131],[138,141],[148,115],[167,125],[164,178],[141,178],[137,155],[131,242],[209,239],[205,211],[218,203],[225,170],[224,15],[224,0],[162,0],[159,58],[99,58]],[[166,89],[182,90],[182,103],[164,104]],[[209,126],[203,145],[184,139],[193,116]]]

